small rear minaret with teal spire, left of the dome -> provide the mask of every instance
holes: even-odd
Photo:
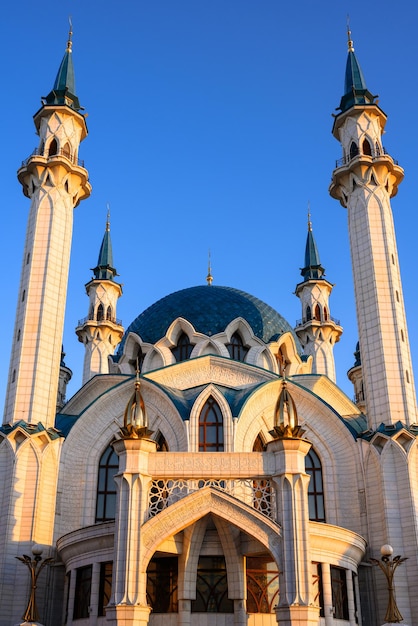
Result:
[[[116,303],[122,295],[122,286],[114,280],[117,272],[113,267],[109,212],[93,272],[94,278],[86,284],[89,314],[80,320],[75,331],[85,347],[83,385],[96,374],[109,373],[108,357],[123,337],[122,323],[116,319]]]

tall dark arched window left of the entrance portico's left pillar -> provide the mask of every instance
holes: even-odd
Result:
[[[115,474],[119,469],[118,455],[108,446],[99,462],[97,480],[96,522],[105,522],[115,519],[116,511],[116,483]]]

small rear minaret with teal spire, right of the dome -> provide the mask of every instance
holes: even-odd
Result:
[[[329,296],[333,285],[324,278],[325,270],[319,260],[310,213],[308,213],[305,267],[300,273],[303,282],[296,285],[295,293],[302,303],[302,320],[295,331],[305,354],[313,357],[312,372],[325,374],[335,382],[333,350],[343,329],[330,315]]]

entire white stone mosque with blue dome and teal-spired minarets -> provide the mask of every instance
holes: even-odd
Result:
[[[209,267],[126,330],[107,223],[76,328],[83,385],[65,400],[73,209],[91,192],[71,39],[18,170],[0,626],[418,624],[418,420],[390,205],[403,170],[350,34],[329,192],[348,215],[354,402],[335,382],[342,327],[310,222],[296,327]]]

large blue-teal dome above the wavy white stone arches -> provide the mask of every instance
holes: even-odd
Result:
[[[290,324],[265,302],[232,287],[201,285],[176,291],[141,313],[127,328],[118,354],[122,354],[129,333],[154,344],[165,336],[178,317],[186,319],[197,332],[208,336],[223,332],[232,320],[242,317],[251,326],[254,335],[265,343],[291,332],[298,351],[302,351]]]

